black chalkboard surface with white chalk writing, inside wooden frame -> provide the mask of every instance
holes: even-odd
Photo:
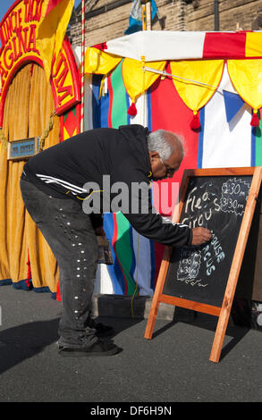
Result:
[[[191,177],[180,223],[213,233],[201,247],[173,248],[163,293],[221,307],[252,176]]]

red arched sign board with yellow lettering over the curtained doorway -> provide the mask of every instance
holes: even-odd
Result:
[[[36,29],[40,21],[44,0],[16,0],[0,23],[0,126],[3,124],[4,100],[13,76],[25,63],[43,66],[36,47]],[[56,113],[61,115],[80,102],[79,74],[70,43],[54,57],[51,86]]]

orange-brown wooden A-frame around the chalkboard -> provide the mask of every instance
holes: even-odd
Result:
[[[203,312],[209,315],[218,317],[216,325],[216,333],[213,341],[209,360],[215,363],[219,362],[221,350],[224,342],[224,335],[226,332],[229,315],[232,308],[232,301],[236,289],[239,273],[241,271],[241,263],[244,256],[244,251],[249,237],[249,229],[252,222],[252,217],[257,204],[258,193],[261,185],[262,167],[243,167],[243,168],[219,168],[219,169],[190,169],[185,170],[182,177],[182,184],[180,189],[180,202],[178,204],[178,220],[174,220],[174,214],[177,214],[176,209],[173,212],[173,222],[178,222],[182,214],[182,206],[184,204],[186,192],[189,186],[190,178],[195,177],[208,177],[208,176],[238,176],[238,175],[251,175],[252,181],[249,189],[249,197],[245,207],[245,212],[241,221],[241,229],[239,232],[236,248],[232,258],[231,270],[227,280],[226,288],[224,291],[224,299],[222,307],[215,307],[204,303],[195,302],[185,298],[176,298],[163,294],[165,285],[165,278],[168,272],[170,257],[172,255],[172,247],[165,247],[163,260],[160,266],[158,279],[156,282],[156,290],[152,300],[152,305],[148,315],[148,323],[145,332],[145,339],[151,340],[154,326],[156,323],[156,315],[159,303],[184,307],[198,312]]]

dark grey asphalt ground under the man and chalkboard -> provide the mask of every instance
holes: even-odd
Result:
[[[180,311],[173,321],[157,319],[152,340],[144,339],[147,319],[104,316],[97,319],[114,326],[113,340],[123,349],[118,355],[61,357],[61,303],[50,293],[3,286],[0,306],[2,403],[86,403],[99,411],[109,403],[163,408],[172,402],[262,401],[262,332],[230,325],[216,364],[209,361],[214,316]]]

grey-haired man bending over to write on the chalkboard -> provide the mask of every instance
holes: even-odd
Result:
[[[52,249],[60,271],[63,312],[58,345],[61,355],[109,356],[119,351],[113,342],[101,339],[112,334],[113,329],[94,323],[91,317],[97,269],[96,234],[105,234],[100,214],[106,202],[104,197],[109,197],[109,211],[115,211],[111,206],[115,198],[112,186],[119,186],[120,182],[126,186],[128,193],[123,200],[128,203],[123,214],[148,239],[173,247],[201,245],[211,239],[211,232],[205,228],[190,229],[184,224],[167,223],[152,208],[149,189],[147,209],[143,206],[141,209],[141,194],[132,189],[133,183],[148,185],[150,180],[172,178],[183,154],[177,135],[165,130],[149,132],[133,124],[118,130],[83,132],[47,148],[25,164],[21,195]],[[106,190],[105,176],[109,180]],[[97,195],[102,197],[101,207],[94,206],[92,210],[88,205],[91,200],[96,201]],[[139,211],[132,211],[135,200]]]

